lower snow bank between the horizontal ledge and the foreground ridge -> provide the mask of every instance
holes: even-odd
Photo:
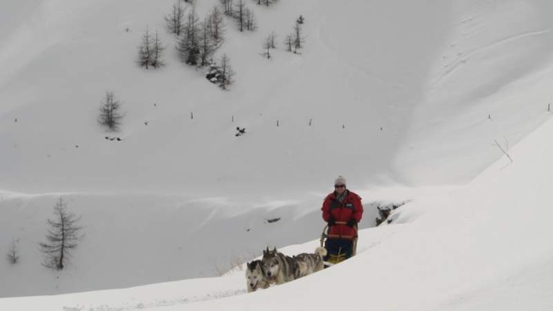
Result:
[[[66,194],[70,211],[82,216],[85,234],[66,269],[41,265],[46,219],[54,219],[56,194],[2,194],[2,257],[17,240],[20,261],[0,261],[0,297],[126,288],[217,276],[232,265],[321,233],[321,197],[250,202],[184,196]],[[362,227],[375,225],[367,205]],[[268,220],[278,219],[274,223]],[[32,280],[31,283],[21,280]]]

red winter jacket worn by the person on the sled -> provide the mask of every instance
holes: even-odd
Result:
[[[332,192],[332,194],[324,198],[321,210],[323,211],[323,219],[327,223],[330,219],[330,215],[332,215],[336,222],[344,223],[347,223],[352,218],[355,219],[356,223],[359,223],[363,217],[361,197],[357,196],[357,194],[354,194],[352,191],[348,191],[348,195],[344,199],[344,202],[341,203],[337,200],[336,193]],[[355,229],[348,225],[332,225],[328,231],[329,238],[354,238],[355,236]]]

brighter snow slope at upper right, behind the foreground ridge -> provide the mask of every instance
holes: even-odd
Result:
[[[395,159],[410,182],[471,180],[501,156],[494,140],[513,146],[550,117],[553,3],[451,3],[451,32]]]

